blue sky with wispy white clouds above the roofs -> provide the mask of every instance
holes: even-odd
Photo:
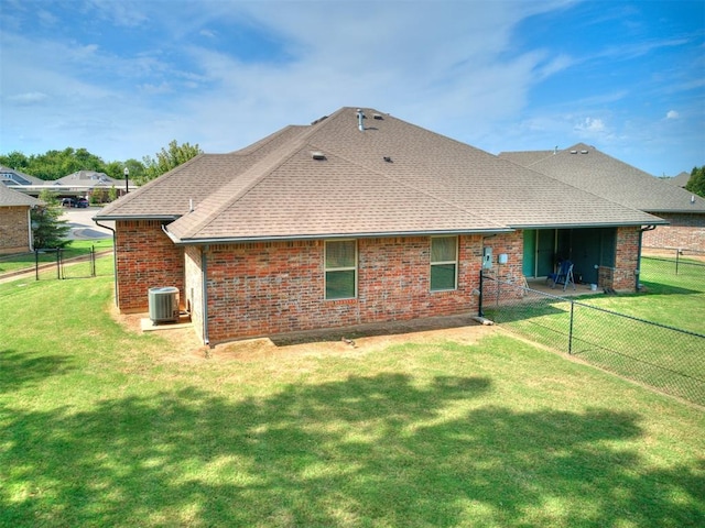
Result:
[[[484,148],[705,165],[705,1],[0,0],[0,153],[241,148],[368,107]]]

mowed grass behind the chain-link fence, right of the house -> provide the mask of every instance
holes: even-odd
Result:
[[[643,274],[646,293],[575,298],[572,327],[571,302],[556,297],[532,294],[485,314],[535,342],[705,406],[705,266],[685,261],[676,276],[668,263],[644,258]]]

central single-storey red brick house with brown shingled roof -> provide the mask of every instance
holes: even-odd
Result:
[[[476,314],[488,254],[490,273],[520,282],[573,251],[587,280],[634,290],[642,227],[662,223],[355,108],[200,154],[95,220],[115,221],[119,309],[176,286],[206,343]]]

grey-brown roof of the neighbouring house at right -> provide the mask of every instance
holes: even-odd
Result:
[[[585,143],[561,151],[502,152],[499,157],[642,211],[705,213],[705,199]]]

